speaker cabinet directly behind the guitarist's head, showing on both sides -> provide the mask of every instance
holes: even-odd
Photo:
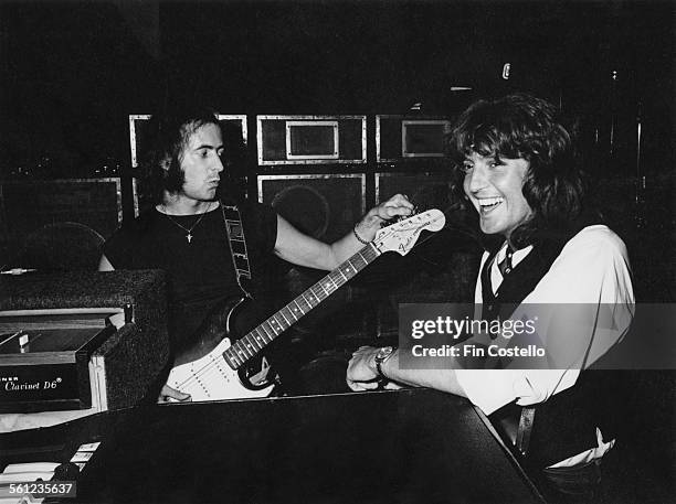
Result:
[[[150,115],[133,114],[129,116],[129,149],[131,152],[131,168],[137,168],[144,154],[150,147]],[[223,142],[226,150],[246,146],[249,133],[246,116],[219,115],[219,122],[223,131]]]

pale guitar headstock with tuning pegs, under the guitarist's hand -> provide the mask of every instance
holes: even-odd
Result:
[[[411,251],[422,230],[437,232],[446,224],[443,212],[436,208],[399,221],[376,234],[373,245],[381,253],[394,250],[405,256]]]

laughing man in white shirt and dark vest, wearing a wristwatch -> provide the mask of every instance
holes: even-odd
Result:
[[[401,350],[362,347],[350,361],[348,385],[371,389],[387,380],[467,397],[508,438],[511,422],[520,441],[527,430],[520,454],[554,500],[589,502],[614,432],[605,427],[609,411],[593,406],[603,401],[601,378],[609,375],[584,369],[632,321],[626,247],[590,210],[573,139],[548,101],[524,94],[479,100],[457,119],[448,148],[487,244],[476,312],[486,321],[538,313],[549,365],[493,360],[476,368],[457,360],[448,369],[411,369],[400,365]],[[473,334],[468,342],[497,341]]]

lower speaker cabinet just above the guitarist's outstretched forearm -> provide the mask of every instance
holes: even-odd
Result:
[[[258,201],[326,243],[350,232],[366,212],[366,174],[258,175]]]

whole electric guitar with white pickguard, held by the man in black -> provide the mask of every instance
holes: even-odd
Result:
[[[212,324],[218,329],[205,331],[208,336],[200,337],[177,357],[167,385],[190,394],[193,401],[268,396],[274,384],[255,386],[251,377],[245,376],[251,360],[378,256],[391,250],[406,255],[422,230],[437,232],[444,224],[444,214],[430,210],[383,227],[373,242],[240,339],[231,337],[234,335],[233,321],[246,298],[225,303],[219,310],[222,317]]]

